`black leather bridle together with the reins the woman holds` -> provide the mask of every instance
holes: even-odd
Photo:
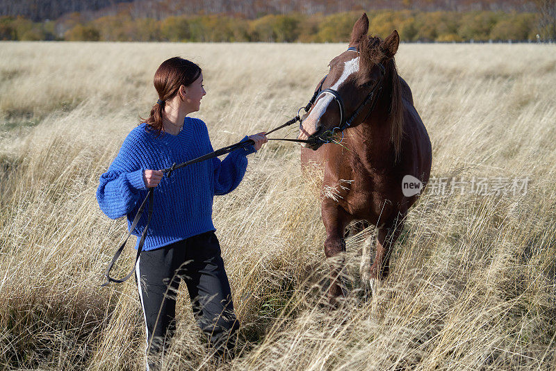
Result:
[[[359,53],[357,48],[354,48],[354,47],[350,47],[347,50],[348,51],[350,51],[350,50],[351,51],[356,51],[357,53]],[[332,97],[334,98],[334,100],[337,102],[338,107],[340,108],[340,124],[338,126],[334,127],[334,129],[332,129],[332,133],[334,133],[334,131],[336,131],[336,129],[337,129],[338,131],[341,131],[342,135],[343,135],[343,130],[346,129],[347,127],[349,127],[352,124],[354,119],[356,119],[357,116],[359,115],[359,113],[361,113],[361,110],[363,109],[363,107],[366,106],[366,104],[368,104],[368,102],[371,99],[373,99],[373,97],[375,96],[375,93],[377,92],[377,89],[379,91],[382,90],[382,86],[380,86],[380,85],[382,85],[382,79],[384,78],[385,70],[384,70],[384,66],[382,64],[379,63],[378,66],[379,66],[380,71],[381,71],[381,77],[380,77],[379,81],[377,82],[377,84],[375,85],[373,90],[371,90],[371,92],[363,100],[363,102],[361,104],[359,104],[359,107],[357,107],[357,109],[354,110],[354,112],[352,113],[352,115],[350,116],[349,119],[346,119],[345,121],[343,119],[344,114],[345,114],[345,108],[344,108],[344,104],[343,104],[343,99],[340,97],[340,94],[338,94],[338,92],[336,90],[332,90],[332,89],[322,90],[322,84],[325,83],[325,80],[328,76],[327,75],[327,76],[324,77],[324,79],[322,79],[322,81],[320,81],[320,85],[319,85],[318,89],[314,92],[313,97],[311,97],[311,99],[309,100],[309,103],[306,104],[306,106],[297,110],[297,115],[295,117],[293,117],[293,119],[290,119],[286,123],[281,124],[280,126],[277,126],[275,129],[267,131],[265,135],[273,133],[273,132],[275,132],[279,129],[282,129],[286,126],[290,126],[292,124],[295,124],[295,122],[300,122],[301,123],[302,119],[300,117],[300,111],[304,110],[305,113],[309,113],[309,110],[311,109],[311,106],[313,106],[313,104],[315,104],[316,100],[318,98],[320,98],[320,96],[322,94],[331,94]],[[369,110],[369,113],[367,114],[366,117],[368,117],[368,115],[370,115],[370,113],[373,112],[373,109],[375,108],[376,103],[377,103],[377,99],[374,99],[373,106],[371,106],[371,108]],[[364,121],[364,119],[363,119],[363,121]],[[329,141],[327,141],[327,138],[320,138],[320,136],[309,138],[307,140],[286,139],[286,138],[268,138],[268,140],[284,140],[284,141],[288,141],[288,142],[302,142],[302,143],[310,143],[310,144],[316,144],[318,142],[322,142],[322,143],[329,142]],[[175,170],[181,169],[181,167],[186,167],[188,165],[193,165],[194,163],[199,163],[199,162],[204,161],[204,160],[208,160],[208,159],[211,159],[211,158],[222,156],[224,154],[229,154],[229,152],[231,152],[231,151],[234,151],[236,149],[245,147],[247,145],[254,145],[254,144],[255,144],[254,140],[251,140],[251,139],[250,140],[243,140],[241,142],[235,143],[234,145],[229,145],[227,147],[217,149],[216,151],[208,153],[204,156],[193,158],[193,160],[186,161],[185,163],[180,163],[180,164],[174,163],[174,164],[172,164],[171,167],[168,167],[168,168],[163,169],[161,171],[163,172],[163,176],[165,176],[167,178],[170,178],[170,176],[172,175],[172,172],[174,172]],[[145,206],[147,204],[147,199],[148,199],[148,204],[149,204],[148,213],[147,213],[147,224],[145,225],[145,228],[143,229],[143,231],[141,233],[141,238],[139,240],[139,245],[137,247],[137,254],[136,254],[136,258],[135,258],[135,264],[133,264],[133,267],[131,268],[131,270],[129,271],[129,273],[125,277],[123,277],[122,279],[115,279],[115,278],[110,276],[110,272],[111,272],[112,268],[114,267],[114,264],[116,263],[117,259],[120,258],[120,255],[122,254],[122,252],[124,250],[124,247],[126,245],[127,240],[129,240],[129,238],[131,237],[131,234],[135,230],[143,212],[145,211]],[[125,282],[125,281],[127,281],[127,279],[129,279],[129,277],[131,277],[133,272],[135,272],[137,261],[139,260],[139,256],[142,252],[142,247],[145,243],[145,238],[147,236],[147,230],[149,228],[149,224],[151,222],[153,212],[154,212],[154,187],[149,188],[149,191],[147,192],[147,196],[145,196],[145,199],[143,199],[141,205],[139,206],[137,214],[136,214],[135,218],[133,219],[133,222],[131,223],[131,226],[129,227],[129,231],[127,233],[126,238],[120,244],[120,247],[118,247],[116,249],[116,252],[115,252],[115,254],[112,258],[112,261],[108,264],[108,268],[106,269],[106,272],[104,273],[104,276],[106,277],[106,281],[104,281],[104,283],[102,283],[101,286],[108,286],[108,284],[111,283],[111,282],[114,282],[114,283]]]

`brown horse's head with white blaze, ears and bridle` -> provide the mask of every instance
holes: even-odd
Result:
[[[347,126],[361,124],[373,110],[385,74],[391,74],[392,68],[395,73],[398,32],[382,40],[368,36],[368,28],[369,20],[363,13],[353,26],[349,48],[330,61],[329,73],[319,81],[316,100],[300,124],[297,138],[309,140],[303,147],[316,150]]]

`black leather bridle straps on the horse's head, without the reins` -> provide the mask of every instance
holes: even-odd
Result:
[[[356,47],[349,47],[349,48],[347,48],[347,50],[348,51],[355,51],[355,52],[359,53],[359,50],[357,50]],[[345,129],[347,129],[349,126],[352,125],[354,120],[357,119],[357,117],[361,113],[361,110],[369,103],[369,101],[373,100],[373,97],[378,97],[378,94],[382,90],[382,80],[384,79],[384,75],[386,74],[386,69],[384,69],[384,66],[382,65],[382,63],[378,63],[377,65],[380,68],[380,79],[379,79],[379,81],[377,81],[377,83],[373,87],[373,90],[371,90],[369,92],[369,94],[367,94],[367,97],[365,97],[365,99],[363,99],[361,104],[359,104],[359,106],[353,111],[352,115],[349,118],[344,120],[345,107],[344,107],[344,104],[343,104],[343,99],[340,96],[340,94],[338,94],[338,91],[334,90],[334,89],[322,90],[322,85],[325,83],[325,80],[326,80],[328,75],[326,75],[324,77],[324,79],[322,79],[320,81],[320,85],[319,85],[318,89],[315,91],[315,93],[313,94],[313,97],[309,101],[309,104],[307,104],[305,107],[300,108],[300,110],[304,109],[306,113],[309,113],[309,110],[310,110],[311,106],[313,106],[313,104],[315,104],[315,102],[322,95],[324,95],[324,94],[332,95],[332,98],[338,104],[338,108],[340,108],[340,122],[339,122],[338,126],[335,126],[332,130],[326,131],[325,133],[330,133],[331,135],[329,135],[329,136],[332,136],[332,135],[334,135],[334,133],[341,132],[342,133],[342,138],[343,138],[343,131]],[[373,105],[370,107],[370,110],[369,110],[367,116],[363,119],[363,121],[365,121],[365,119],[368,117],[368,115],[370,115],[370,113],[373,112],[373,110],[375,109],[375,106],[377,104],[377,100],[378,100],[377,98],[375,98],[373,100]],[[297,115],[299,116],[299,111],[297,111]],[[300,120],[300,122],[301,122],[301,120]],[[317,135],[316,139],[318,141],[322,142],[322,143],[330,142],[329,139],[322,138],[320,135]]]

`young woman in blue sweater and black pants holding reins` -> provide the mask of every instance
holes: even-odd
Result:
[[[129,227],[148,188],[154,188],[156,206],[136,264],[147,370],[176,327],[180,281],[187,285],[195,319],[213,352],[233,356],[238,321],[214,233],[213,196],[234,190],[245,174],[246,156],[268,142],[265,133],[250,135],[254,145],[236,149],[222,161],[213,158],[163,177],[160,169],[207,154],[213,147],[204,122],[187,117],[199,110],[206,94],[201,68],[179,57],[165,60],[154,74],[154,87],[158,102],[149,118],[127,135],[97,190],[101,210],[114,219],[127,215]],[[146,214],[133,234],[139,236],[144,229]]]

